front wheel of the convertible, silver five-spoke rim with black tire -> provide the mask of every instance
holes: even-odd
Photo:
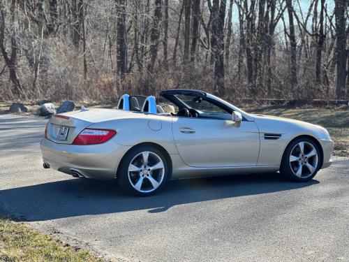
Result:
[[[306,182],[320,169],[320,148],[309,138],[292,141],[283,154],[280,172],[290,180]]]

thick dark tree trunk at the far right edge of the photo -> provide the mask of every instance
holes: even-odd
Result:
[[[344,99],[346,95],[346,0],[336,0],[336,98]]]

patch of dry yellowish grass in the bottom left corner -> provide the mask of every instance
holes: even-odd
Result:
[[[29,226],[0,217],[0,261],[102,261]]]

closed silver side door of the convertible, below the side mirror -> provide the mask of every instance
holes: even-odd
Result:
[[[172,117],[174,142],[181,159],[193,167],[256,166],[260,138],[255,122]]]

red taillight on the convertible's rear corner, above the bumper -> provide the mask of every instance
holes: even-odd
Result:
[[[84,129],[74,139],[73,145],[96,145],[110,140],[117,131],[109,129]]]

